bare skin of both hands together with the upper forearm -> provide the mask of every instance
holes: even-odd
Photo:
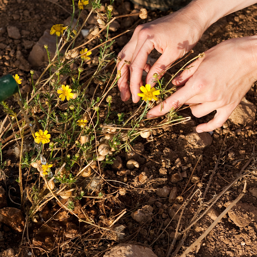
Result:
[[[130,66],[124,65],[118,80],[122,100],[128,100],[132,94],[133,102],[139,101],[137,93],[141,92],[139,88],[143,85],[143,70],[148,72],[146,84],[154,86],[152,75],[160,74],[189,52],[211,24],[254,3],[256,0],[195,0],[173,14],[137,26],[131,40],[118,55],[122,58],[118,70],[124,60],[131,62]],[[146,60],[154,48],[162,55],[151,67]],[[217,113],[213,120],[199,124],[196,131],[212,131],[222,126],[257,79],[256,50],[256,36],[226,40],[209,49],[205,57],[190,64],[194,67],[172,81],[182,87],[163,102],[162,111],[156,106],[147,116],[163,115],[184,103],[199,103],[191,107],[196,117],[214,110]],[[127,83],[129,78],[130,86]]]

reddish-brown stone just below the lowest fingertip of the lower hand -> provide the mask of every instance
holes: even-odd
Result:
[[[193,132],[186,135],[183,139],[185,147],[196,148],[198,150],[204,150],[212,143],[212,136],[207,132],[197,133],[196,127],[193,127]]]

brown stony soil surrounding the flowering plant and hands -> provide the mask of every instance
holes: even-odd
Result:
[[[15,54],[11,53],[12,50],[14,52],[20,50],[27,60],[31,48],[24,48],[24,40],[37,42],[45,29],[50,29],[54,24],[63,24],[63,21],[69,18],[69,13],[72,12],[71,4],[72,1],[0,0],[0,26],[3,28],[3,33],[0,34],[0,43],[2,43],[0,45],[0,76],[17,73],[23,79],[21,91],[24,97],[26,97],[27,92],[32,90],[29,80],[31,75],[29,71],[16,67],[16,57]],[[115,15],[130,13],[134,8],[140,9],[139,6],[134,6],[129,1],[116,1],[114,7]],[[148,12],[146,20],[141,20],[138,17],[119,20],[121,26],[115,32],[111,32],[111,37],[126,29],[131,29],[131,31],[116,40],[113,47],[115,54],[117,55],[131,38],[137,24],[152,21],[171,12],[173,12],[172,8],[167,12],[153,10]],[[204,33],[191,56],[196,56],[226,39],[255,34],[257,32],[256,21],[256,4],[220,19]],[[20,39],[8,37],[5,31],[8,25],[16,26],[22,37]],[[95,40],[88,48],[98,44],[98,42],[98,40]],[[96,53],[93,52],[93,54]],[[158,52],[152,51],[150,62],[156,60],[159,56]],[[165,75],[165,79],[168,81],[169,74],[176,72],[187,60],[173,67]],[[31,68],[41,74],[44,67]],[[85,81],[86,79],[88,78],[85,78]],[[95,85],[91,87],[94,89]],[[254,105],[257,104],[256,89],[255,83],[246,94],[246,99]],[[91,91],[89,90],[90,94]],[[131,99],[124,103],[121,102],[117,88],[114,88],[111,94],[114,98],[113,108],[115,111],[126,112],[128,110],[131,112],[136,108],[137,104],[134,104]],[[16,106],[12,97],[7,99],[7,104]],[[18,109],[17,107],[16,113]],[[0,118],[3,121],[5,114],[2,107],[0,110]],[[182,113],[185,116],[191,116],[189,108],[184,109]],[[257,178],[254,173],[256,167],[254,150],[257,135],[256,127],[255,124],[244,126],[236,123],[226,123],[222,128],[211,134],[212,143],[205,149],[194,149],[185,144],[186,136],[193,132],[194,127],[199,123],[209,121],[214,114],[210,113],[202,118],[192,116],[189,122],[165,130],[154,131],[152,140],[143,138],[137,140],[136,143],[141,144],[135,146],[135,148],[140,149],[143,145],[144,152],[142,149],[140,150],[142,155],[137,156],[140,166],[126,175],[127,181],[124,173],[119,173],[110,166],[107,166],[104,170],[105,179],[112,181],[111,183],[116,187],[116,190],[118,188],[116,194],[110,194],[103,201],[90,201],[89,198],[86,198],[86,200],[82,199],[75,202],[75,210],[78,216],[85,217],[86,214],[86,217],[93,220],[95,224],[105,227],[112,224],[113,216],[126,209],[126,214],[111,227],[113,230],[124,232],[125,235],[121,236],[111,231],[100,234],[93,226],[79,223],[76,217],[62,209],[56,201],[49,201],[47,205],[39,210],[33,221],[26,221],[27,230],[25,230],[25,234],[17,233],[9,226],[0,223],[0,252],[3,255],[5,250],[12,248],[16,256],[31,256],[31,254],[32,256],[103,256],[105,251],[110,249],[112,245],[116,245],[117,242],[129,242],[151,246],[158,257],[163,257],[170,248],[175,235],[174,232],[178,225],[181,210],[176,215],[175,212],[181,204],[185,200],[188,201],[179,221],[179,232],[188,227],[199,208],[206,208],[205,203],[210,205],[213,202],[213,197],[219,196],[212,206],[212,214],[209,212],[188,230],[185,241],[179,247],[177,253],[177,256],[180,256],[210,226],[213,220],[242,193],[244,181],[246,181],[245,195],[238,201],[236,207],[232,208],[210,233],[194,247],[190,256],[256,256],[257,193],[255,188],[257,188]],[[11,133],[7,133],[2,138],[2,143],[10,135]],[[19,176],[18,160],[14,154],[10,154],[15,146],[14,143],[14,140],[10,141],[2,151],[2,160],[8,159],[9,161],[7,167],[3,169],[6,179],[2,179],[0,184],[7,192],[5,193],[7,206],[20,208],[19,205],[14,203],[20,202],[19,185],[15,181]],[[125,167],[126,153],[121,152],[119,157]],[[248,162],[249,160],[250,162]],[[245,164],[247,165],[245,166]],[[241,172],[242,168],[243,172]],[[251,176],[238,179],[232,187],[221,195],[222,190],[240,176],[240,172],[245,174],[245,170],[252,171]],[[195,178],[195,180],[190,179],[193,171],[192,179]],[[172,179],[172,175],[175,173],[181,173],[183,175],[182,179],[179,178],[175,182]],[[203,194],[212,173],[214,173],[212,182],[203,199]],[[26,183],[28,184],[35,182],[33,176],[27,177],[25,169],[23,170],[23,179],[24,181],[27,180]],[[198,179],[200,182],[195,183]],[[147,182],[144,182],[144,180]],[[186,190],[184,190],[185,188]],[[106,194],[109,192],[106,184],[103,190]],[[175,203],[172,202],[172,199],[169,199],[170,191],[176,192],[176,196],[180,196],[183,192],[182,202],[178,198]],[[10,197],[8,197],[8,192]],[[196,194],[189,201],[192,192],[196,192]],[[173,196],[173,198],[175,197]],[[63,199],[62,202],[65,204],[67,200]],[[26,204],[21,210],[23,216],[26,217]],[[144,215],[143,218],[137,216],[137,220],[133,219],[131,214],[133,213],[135,217],[135,211],[139,212],[140,210]],[[203,211],[199,213],[203,213]],[[171,217],[174,215],[175,217],[171,221]],[[169,223],[170,221],[171,223]],[[164,233],[161,234],[163,231]],[[171,253],[182,242],[182,236],[177,237]]]

